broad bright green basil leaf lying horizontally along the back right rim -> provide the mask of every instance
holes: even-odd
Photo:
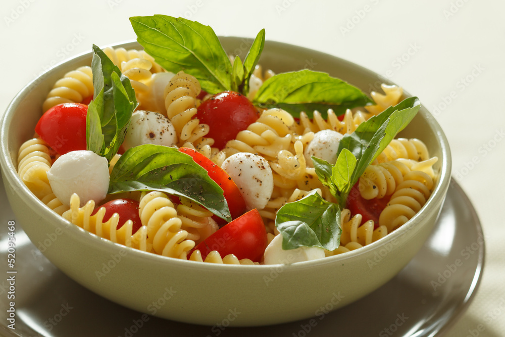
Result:
[[[262,108],[280,107],[294,117],[305,111],[312,118],[313,111],[319,110],[326,118],[328,109],[340,115],[346,109],[371,102],[357,87],[327,73],[305,69],[270,77],[260,87],[252,103]]]

